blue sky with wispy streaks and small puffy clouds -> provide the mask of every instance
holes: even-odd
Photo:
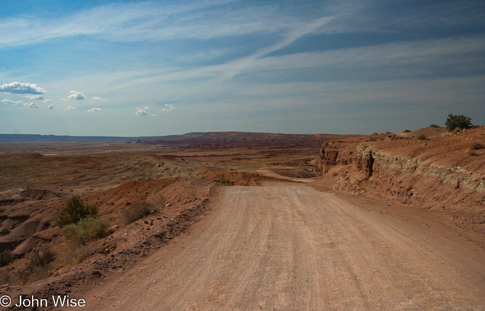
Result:
[[[485,124],[485,2],[37,1],[0,10],[0,133]]]

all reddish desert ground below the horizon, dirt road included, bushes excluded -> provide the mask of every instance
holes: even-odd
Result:
[[[13,259],[0,296],[84,299],[75,310],[485,309],[485,127],[181,136],[0,142]],[[72,195],[117,228],[66,245],[53,219]],[[152,212],[127,222],[137,204]]]

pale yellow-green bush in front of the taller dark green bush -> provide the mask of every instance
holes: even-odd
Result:
[[[109,234],[111,223],[101,217],[81,219],[77,224],[69,224],[61,229],[66,244],[85,245],[86,243]]]

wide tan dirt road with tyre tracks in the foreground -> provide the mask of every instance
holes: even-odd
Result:
[[[189,233],[72,296],[96,311],[485,309],[483,250],[423,222],[304,185],[226,187]]]

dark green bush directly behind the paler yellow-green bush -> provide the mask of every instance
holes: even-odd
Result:
[[[98,215],[98,206],[84,204],[80,196],[72,196],[66,200],[65,206],[58,213],[54,221],[59,227],[76,224],[81,219]]]

